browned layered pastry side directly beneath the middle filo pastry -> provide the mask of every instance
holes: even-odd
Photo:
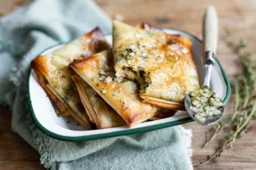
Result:
[[[72,78],[87,114],[94,120],[98,129],[126,125],[124,119],[80,76],[73,75]]]

